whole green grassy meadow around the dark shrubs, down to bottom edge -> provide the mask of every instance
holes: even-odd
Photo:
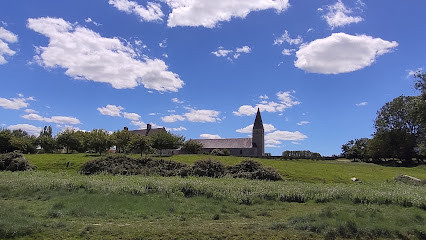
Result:
[[[425,239],[424,166],[256,159],[286,181],[229,177],[83,176],[97,156],[26,155],[35,171],[0,172],[0,238]],[[137,157],[137,156],[135,156]],[[210,157],[233,165],[244,158]],[[67,163],[68,164],[68,168]],[[353,183],[356,176],[361,183]]]

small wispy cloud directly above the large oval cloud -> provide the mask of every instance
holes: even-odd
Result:
[[[342,27],[351,23],[358,23],[363,21],[362,17],[349,16],[347,14],[352,13],[352,9],[346,8],[341,0],[338,0],[335,4],[327,6],[328,12],[322,17],[327,21],[327,24],[334,29],[335,27]]]

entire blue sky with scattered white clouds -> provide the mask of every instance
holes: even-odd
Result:
[[[165,127],[341,153],[417,95],[426,1],[0,1],[0,126]]]

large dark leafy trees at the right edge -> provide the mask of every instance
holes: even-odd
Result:
[[[426,73],[414,74],[418,96],[399,96],[387,102],[374,122],[372,138],[360,138],[342,145],[348,159],[402,165],[424,163],[426,159]]]

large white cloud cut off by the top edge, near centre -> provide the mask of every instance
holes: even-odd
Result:
[[[245,18],[252,11],[275,9],[278,13],[286,10],[288,0],[164,0],[171,8],[167,25],[203,26],[213,28],[219,22],[231,18]]]

